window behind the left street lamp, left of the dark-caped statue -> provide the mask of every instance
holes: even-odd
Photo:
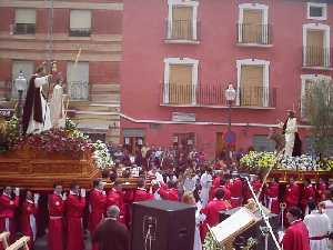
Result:
[[[19,77],[20,71],[22,71],[24,78],[27,79],[27,88],[28,88],[28,81],[31,78],[31,74],[33,74],[34,70],[34,62],[33,61],[13,61],[12,62],[12,88],[11,88],[11,97],[18,98],[19,93],[16,88],[16,79]],[[27,90],[27,89],[26,89]],[[26,97],[26,91],[23,92],[23,98]]]

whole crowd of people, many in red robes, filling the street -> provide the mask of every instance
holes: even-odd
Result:
[[[93,250],[111,249],[110,246],[113,250],[129,250],[131,204],[145,200],[195,206],[193,250],[202,250],[208,226],[220,222],[220,212],[244,206],[252,198],[246,174],[236,171],[238,156],[233,160],[208,162],[194,149],[143,146],[134,158],[125,150],[110,151],[115,167],[103,172],[104,179],[94,180],[89,192],[74,182],[64,192],[60,183],[54,183],[53,192],[48,196],[49,250],[83,250],[85,230],[90,232]],[[123,183],[131,176],[137,177],[135,188]],[[263,183],[260,176],[249,178],[259,200],[287,226],[280,239],[284,250],[329,249],[333,227],[330,180],[321,178],[314,183],[306,179],[299,183],[290,178],[285,184],[279,179]],[[107,188],[105,180],[112,183],[111,188]],[[29,236],[33,248],[39,197],[29,190],[20,196],[19,188],[6,187],[0,197],[0,231],[10,231],[11,240],[17,232]],[[88,221],[87,228],[82,220]]]

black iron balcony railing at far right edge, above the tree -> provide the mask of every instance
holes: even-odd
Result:
[[[303,47],[303,67],[331,68],[332,54],[332,48]]]

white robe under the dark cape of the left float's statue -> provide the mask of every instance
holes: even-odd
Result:
[[[41,108],[42,108],[42,119],[44,122],[38,122],[33,119],[33,108],[31,111],[30,120],[29,120],[29,126],[27,129],[27,133],[40,133],[42,131],[49,130],[52,128],[51,124],[51,117],[50,117],[50,108],[44,99],[44,97],[41,94],[41,87],[43,84],[47,84],[49,82],[48,77],[40,77],[34,79],[34,87],[40,88],[40,98],[41,98]]]

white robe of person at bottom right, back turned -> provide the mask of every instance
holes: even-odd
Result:
[[[323,237],[331,231],[330,219],[327,214],[320,213],[319,211],[312,211],[304,217],[303,222],[309,230],[309,237]],[[329,239],[310,240],[311,250],[327,250]]]

